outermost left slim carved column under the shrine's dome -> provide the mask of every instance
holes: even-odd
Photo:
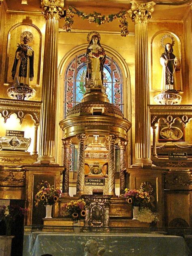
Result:
[[[63,186],[62,193],[64,196],[69,196],[69,168],[70,168],[70,140],[62,139],[64,154],[63,154],[63,166],[65,171],[63,173]]]

